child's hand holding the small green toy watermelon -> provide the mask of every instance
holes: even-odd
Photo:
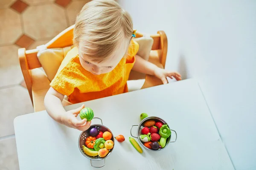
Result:
[[[82,105],[80,108],[67,111],[61,116],[61,124],[66,125],[68,127],[72,127],[81,131],[87,130],[91,122],[86,122],[86,119],[78,120],[76,119],[76,116],[79,114],[81,109],[84,108],[84,105]]]

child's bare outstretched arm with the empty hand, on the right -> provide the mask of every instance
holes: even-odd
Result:
[[[181,76],[177,72],[166,71],[165,69],[159,68],[138,55],[135,55],[135,58],[134,67],[132,68],[134,71],[158,77],[162,80],[163,84],[167,83],[166,77],[170,77],[171,79],[174,77],[177,80],[181,80]]]

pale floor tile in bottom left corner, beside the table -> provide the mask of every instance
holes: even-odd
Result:
[[[0,140],[0,170],[19,170],[15,137]]]

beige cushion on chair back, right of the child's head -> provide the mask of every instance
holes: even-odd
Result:
[[[138,42],[140,45],[138,55],[142,57],[145,60],[148,60],[149,54],[153,45],[153,38],[151,37],[140,37],[140,38],[134,38],[134,41]]]

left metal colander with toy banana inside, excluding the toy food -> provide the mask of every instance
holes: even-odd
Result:
[[[98,117],[95,117],[93,119],[99,119],[101,121],[101,123],[102,123],[102,119],[100,119]],[[101,158],[99,156],[88,156],[87,154],[85,154],[82,145],[85,145],[85,140],[86,140],[87,137],[90,136],[89,132],[90,132],[91,128],[93,128],[93,127],[98,128],[98,131],[102,131],[103,133],[106,132],[106,131],[110,132],[111,135],[112,135],[111,140],[114,142],[114,146],[115,146],[115,140],[114,140],[114,136],[113,136],[113,133],[111,132],[111,130],[109,130],[108,127],[105,127],[103,124],[102,125],[99,125],[99,124],[91,125],[89,129],[83,131],[79,135],[78,147],[79,147],[80,152],[82,153],[83,156],[85,156],[86,158],[90,159],[90,163],[91,163],[92,167],[99,168],[99,167],[103,167],[105,165],[105,159],[111,154],[111,152],[112,152],[114,147],[109,151],[108,155],[105,156],[104,158]],[[98,166],[97,167],[97,166],[93,165],[92,161],[99,161],[99,160],[102,160],[102,159],[104,159],[104,164],[102,166]]]

